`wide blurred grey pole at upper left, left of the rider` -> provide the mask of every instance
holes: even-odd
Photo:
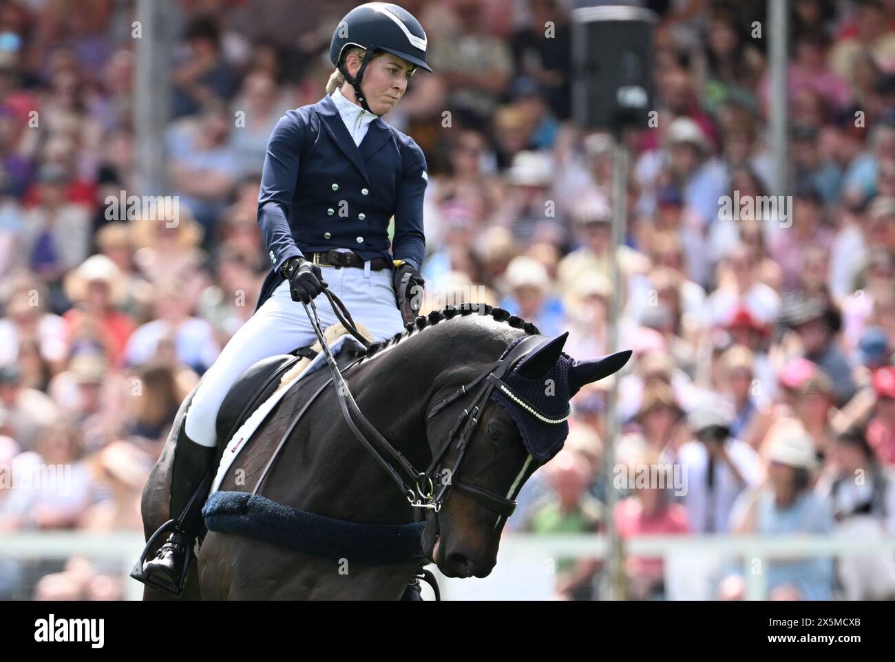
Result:
[[[135,185],[141,195],[166,191],[165,127],[171,116],[171,51],[174,25],[169,4],[137,0],[137,65],[134,81]]]

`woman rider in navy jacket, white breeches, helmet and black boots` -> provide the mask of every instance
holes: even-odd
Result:
[[[403,331],[402,310],[419,309],[413,294],[423,285],[426,159],[413,139],[381,115],[396,106],[417,68],[431,72],[426,50],[419,21],[396,4],[354,8],[333,34],[329,55],[337,70],[327,95],[290,110],[274,128],[258,203],[272,269],[258,308],[192,397],[171,470],[170,513],[179,519],[134,578],[177,595],[183,591],[187,550],[198,533],[209,485],[203,479],[217,445],[218,408],[253,363],[316,340],[298,301],[309,303],[328,287],[373,340]],[[328,305],[320,306],[319,314],[325,326],[337,321]]]

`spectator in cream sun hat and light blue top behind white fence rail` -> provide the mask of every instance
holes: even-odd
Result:
[[[829,505],[814,494],[817,459],[811,437],[797,423],[774,426],[762,448],[767,480],[747,490],[733,506],[730,530],[741,534],[826,534],[833,529]],[[745,595],[742,563],[720,582],[720,598]],[[770,561],[766,568],[771,600],[829,600],[833,562],[823,556]]]

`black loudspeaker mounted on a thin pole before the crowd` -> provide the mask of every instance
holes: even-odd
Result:
[[[646,128],[656,15],[620,5],[572,12],[572,113],[584,129]]]

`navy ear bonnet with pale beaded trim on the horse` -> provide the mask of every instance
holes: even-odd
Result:
[[[506,358],[525,337],[516,338],[500,358]],[[572,412],[569,404],[572,396],[569,374],[574,361],[563,352],[547,374],[537,378],[520,375],[519,363],[521,361],[516,362],[516,366],[503,378],[512,393],[507,394],[501,386],[495,386],[490,400],[499,403],[509,412],[522,435],[526,450],[539,463],[544,463],[562,449],[568,437],[567,419]],[[516,398],[524,403],[518,402]],[[549,420],[555,422],[548,422]]]

